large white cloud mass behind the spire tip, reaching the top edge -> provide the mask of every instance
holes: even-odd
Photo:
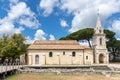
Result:
[[[55,7],[73,15],[69,32],[74,32],[94,27],[98,9],[102,22],[112,14],[120,12],[120,0],[41,0],[40,2],[40,8],[47,16],[53,12]]]

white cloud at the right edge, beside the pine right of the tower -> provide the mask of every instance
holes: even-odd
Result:
[[[115,20],[112,24],[112,27],[109,27],[108,29],[114,31],[116,36],[120,38],[120,20]]]

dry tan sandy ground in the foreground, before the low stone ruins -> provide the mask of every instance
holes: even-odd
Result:
[[[102,75],[48,75],[48,74],[17,74],[6,80],[120,80],[120,75],[105,77]]]

